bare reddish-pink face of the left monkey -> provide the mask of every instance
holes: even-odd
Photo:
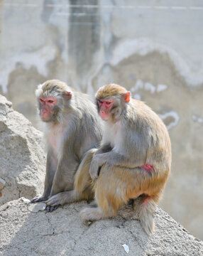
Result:
[[[54,114],[55,106],[57,106],[57,100],[55,97],[39,97],[40,102],[40,116],[45,122],[49,122]]]

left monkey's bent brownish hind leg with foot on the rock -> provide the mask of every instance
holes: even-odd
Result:
[[[75,189],[64,191],[51,196],[46,205],[49,207],[65,205],[66,203],[73,203],[81,200],[92,200],[94,198],[93,183],[89,175],[89,166],[92,157],[97,149],[90,149],[82,159],[77,173],[75,174]],[[49,211],[49,208],[48,208]]]

